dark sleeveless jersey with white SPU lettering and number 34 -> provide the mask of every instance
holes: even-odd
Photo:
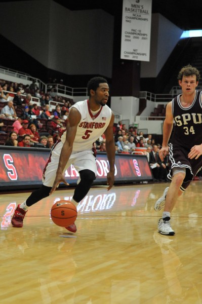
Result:
[[[196,91],[194,100],[189,107],[183,107],[180,95],[172,100],[172,113],[175,120],[171,143],[182,146],[186,150],[202,143],[202,92]]]

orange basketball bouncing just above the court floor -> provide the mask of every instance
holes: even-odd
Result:
[[[73,224],[77,217],[77,210],[70,201],[58,201],[51,208],[52,221],[61,227]]]

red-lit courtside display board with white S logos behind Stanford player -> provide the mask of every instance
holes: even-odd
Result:
[[[0,191],[35,188],[42,185],[42,174],[49,159],[50,149],[0,146]],[[96,184],[106,184],[109,162],[106,153],[96,157]],[[66,181],[74,186],[79,177],[73,166],[65,171]],[[117,154],[115,157],[114,183],[153,180],[147,157]]]

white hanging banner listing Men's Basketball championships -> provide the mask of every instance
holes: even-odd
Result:
[[[123,0],[121,59],[149,61],[152,0]]]

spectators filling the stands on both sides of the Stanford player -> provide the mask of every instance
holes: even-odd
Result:
[[[0,133],[5,133],[2,131],[4,119],[13,121],[13,130],[9,132],[5,145],[50,149],[53,147],[65,130],[65,122],[71,106],[69,100],[57,95],[58,89],[63,87],[62,80],[59,85],[55,81],[49,80],[52,85],[45,93],[38,89],[35,81],[29,86],[23,86],[0,80],[0,102],[4,105],[0,112]],[[40,105],[32,102],[32,97],[39,98]],[[58,102],[52,110],[50,110],[51,100]],[[141,131],[138,133],[137,127],[134,126],[127,129],[126,124],[119,121],[114,128],[114,142],[116,154],[136,154],[141,151],[147,156],[154,180],[167,181],[168,158],[161,162],[158,156],[160,144],[155,143],[151,134],[145,136]],[[95,142],[94,149],[105,153],[105,144],[106,139],[102,134]]]

